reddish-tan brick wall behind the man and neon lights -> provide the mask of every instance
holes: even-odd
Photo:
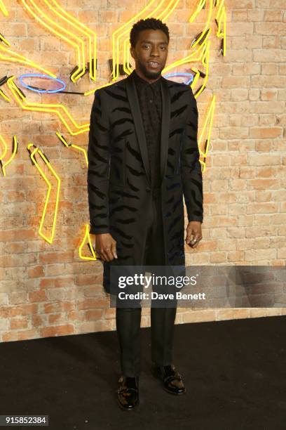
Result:
[[[15,53],[63,79],[67,91],[95,89],[107,82],[112,32],[147,5],[146,0],[124,5],[118,0],[59,3],[97,32],[97,83],[86,76],[71,84],[69,73],[77,61],[74,48],[41,27],[16,0],[4,0],[8,16],[0,11],[1,34],[12,51],[0,50],[0,77],[8,70],[15,77],[39,72],[13,61],[18,58]],[[216,96],[203,174],[203,241],[197,249],[186,249],[186,259],[190,265],[285,266],[286,1],[224,3],[226,56],[219,55],[213,14],[209,79],[198,97],[201,129],[210,100]],[[207,10],[195,22],[188,22],[196,4],[179,1],[166,20],[171,34],[168,64],[188,55],[193,37],[203,30]],[[172,72],[190,67],[182,65]],[[88,223],[83,152],[66,148],[55,136],[59,129],[69,143],[87,149],[88,133],[71,136],[55,113],[23,110],[7,84],[1,89],[11,98],[8,103],[0,97],[0,133],[8,145],[4,160],[11,154],[14,134],[19,148],[6,167],[6,176],[0,178],[0,338],[11,341],[114,330],[114,309],[109,308],[101,287],[101,263],[79,258]],[[78,124],[89,121],[93,96],[23,91],[30,102],[62,103]],[[62,181],[52,244],[39,235],[47,186],[29,159],[29,143],[41,147]],[[0,142],[0,148],[3,155],[4,143]],[[55,187],[51,196],[55,202]],[[52,221],[48,216],[46,226]],[[177,323],[281,314],[285,308],[181,308]],[[149,325],[148,309],[143,311],[142,325]]]

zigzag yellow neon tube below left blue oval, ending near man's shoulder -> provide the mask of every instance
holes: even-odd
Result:
[[[60,117],[60,120],[62,121],[64,126],[67,127],[67,130],[69,131],[69,133],[72,136],[76,136],[78,134],[85,133],[86,131],[89,130],[89,124],[83,124],[83,125],[79,126],[79,124],[77,124],[74,121],[74,118],[71,116],[71,114],[69,113],[69,111],[67,110],[67,108],[64,105],[45,104],[45,103],[41,104],[41,103],[27,102],[26,98],[24,98],[22,96],[22,93],[20,93],[20,91],[18,90],[18,87],[15,85],[13,78],[15,78],[15,76],[9,77],[7,84],[8,84],[9,89],[11,89],[11,92],[13,93],[15,100],[22,107],[22,109],[32,110],[32,111],[34,110],[37,112],[53,112],[53,113],[55,113],[58,117]],[[22,103],[23,101],[25,101],[26,104]],[[64,111],[64,113],[67,115],[67,117],[69,118],[71,123],[74,125],[74,127],[76,129],[79,129],[79,131],[72,131],[71,130],[71,128],[69,127],[69,124],[67,124],[67,122],[65,121],[60,110]]]

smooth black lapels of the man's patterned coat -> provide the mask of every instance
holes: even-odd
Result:
[[[149,157],[147,150],[147,141],[144,131],[144,125],[142,122],[142,115],[139,106],[139,100],[137,97],[135,81],[133,79],[132,73],[125,78],[125,86],[128,95],[128,100],[131,107],[132,117],[135,124],[135,130],[137,134],[137,139],[139,142],[139,148],[142,155],[142,160],[144,164],[144,169],[147,174],[149,185],[151,185],[151,171],[149,165]],[[162,94],[162,122],[161,122],[161,158],[160,158],[160,172],[161,180],[165,175],[165,170],[167,167],[167,157],[168,157],[168,143],[169,143],[169,127],[170,127],[170,93],[168,89],[167,79],[161,77],[161,94]]]

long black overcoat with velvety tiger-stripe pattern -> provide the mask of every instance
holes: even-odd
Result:
[[[118,259],[143,264],[146,218],[151,210],[147,142],[132,74],[95,91],[88,142],[90,233],[110,233]],[[203,222],[203,180],[198,150],[198,109],[190,86],[161,79],[161,207],[165,264],[184,266],[184,201],[189,221]],[[184,201],[183,201],[184,196]]]

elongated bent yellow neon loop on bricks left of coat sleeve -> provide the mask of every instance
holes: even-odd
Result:
[[[27,145],[27,149],[30,150],[30,148],[34,146],[32,143],[29,143]],[[53,216],[53,227],[52,227],[52,233],[50,235],[50,237],[46,236],[44,233],[42,233],[42,228],[43,228],[43,222],[45,220],[45,216],[46,216],[46,210],[47,210],[47,206],[48,206],[48,200],[50,198],[50,190],[52,189],[52,185],[50,184],[50,181],[48,181],[48,178],[46,177],[46,175],[44,174],[43,170],[41,169],[41,167],[39,166],[38,162],[35,159],[35,155],[36,152],[39,153],[39,155],[41,156],[41,158],[43,159],[43,161],[46,163],[46,165],[48,166],[48,169],[50,169],[50,171],[53,173],[53,175],[55,176],[55,178],[57,179],[57,195],[56,195],[56,200],[55,200],[55,211],[54,211],[54,216]],[[39,235],[41,235],[41,237],[43,237],[44,240],[46,240],[46,242],[48,243],[52,243],[54,236],[55,236],[55,222],[57,219],[57,208],[58,208],[58,202],[59,202],[59,196],[60,196],[60,177],[57,176],[57,173],[55,172],[55,170],[53,169],[53,167],[50,165],[50,162],[48,161],[48,159],[46,159],[45,155],[43,154],[43,152],[41,152],[41,150],[39,148],[36,148],[33,150],[33,152],[30,152],[30,158],[33,160],[36,168],[39,170],[41,176],[43,177],[44,181],[46,182],[46,184],[48,185],[48,193],[46,195],[46,201],[45,201],[45,206],[43,208],[43,215],[41,217],[41,223],[40,223],[40,227],[39,227]]]

